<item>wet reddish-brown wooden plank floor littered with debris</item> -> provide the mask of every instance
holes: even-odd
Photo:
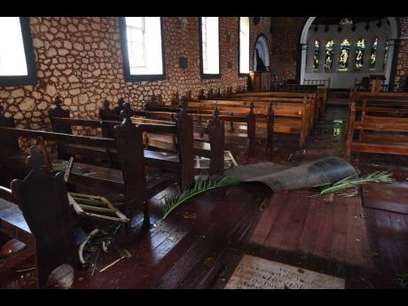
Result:
[[[341,156],[346,113],[327,107],[305,151],[296,150],[296,137],[277,136],[271,161],[297,165]],[[230,148],[246,160],[239,145]],[[264,160],[257,154],[250,162]],[[391,168],[398,180],[408,177],[408,159],[400,156],[358,154],[353,164],[362,173]],[[161,220],[163,195],[151,200],[155,226],[137,224],[131,237],[122,233],[100,253],[93,276],[76,269],[71,287],[223,288],[244,254],[341,277],[348,288],[396,287],[396,274],[408,272],[408,215],[363,208],[359,196],[273,194],[263,184],[241,184],[206,192]],[[121,256],[115,248],[132,257],[99,272]],[[19,272],[33,265],[27,247],[0,257],[0,287],[33,287],[33,271]]]

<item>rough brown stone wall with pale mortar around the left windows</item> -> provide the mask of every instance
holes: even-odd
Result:
[[[33,17],[30,18],[35,64],[39,82],[35,86],[0,88],[0,103],[18,127],[49,129],[46,111],[59,94],[73,118],[95,118],[104,98],[112,102],[125,98],[142,108],[151,95],[161,93],[164,101],[178,91],[226,90],[246,85],[238,74],[239,17],[220,18],[221,77],[200,78],[199,18],[187,17],[187,27],[177,17],[164,18],[166,79],[154,82],[125,82],[122,68],[121,35],[117,17]],[[269,38],[270,19],[254,26],[251,45],[261,31]],[[231,33],[232,35],[227,35]],[[251,62],[252,62],[251,50]],[[181,69],[178,59],[188,59]],[[231,67],[228,67],[231,62]]]

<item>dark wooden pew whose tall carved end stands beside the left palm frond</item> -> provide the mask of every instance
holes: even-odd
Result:
[[[0,139],[4,136],[32,139],[41,137],[43,140],[56,141],[68,145],[88,145],[104,150],[115,150],[118,153],[120,169],[107,169],[74,162],[68,183],[83,184],[102,191],[108,190],[122,194],[124,196],[124,203],[121,209],[125,215],[131,219],[141,210],[144,212],[144,221],[147,224],[149,213],[146,201],[148,198],[146,197],[151,197],[155,194],[153,192],[157,190],[157,184],[160,184],[160,182],[153,182],[150,186],[146,186],[145,161],[143,158],[143,146],[141,145],[143,141],[142,129],[125,118],[121,124],[116,123],[114,132],[114,138],[105,138],[70,135],[43,130],[0,127]],[[7,149],[7,152],[11,152],[11,150]],[[24,160],[25,155],[23,153],[11,153],[8,156],[4,156],[2,168],[4,170],[11,169],[26,175],[28,169]]]

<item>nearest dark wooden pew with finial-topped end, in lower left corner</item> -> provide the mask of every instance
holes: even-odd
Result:
[[[0,231],[35,250],[38,288],[44,288],[61,264],[76,267],[74,224],[63,174],[50,176],[35,146],[27,158],[31,171],[12,189],[0,187]]]

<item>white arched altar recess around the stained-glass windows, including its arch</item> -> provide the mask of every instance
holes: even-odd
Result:
[[[394,73],[392,72],[396,66],[396,41],[400,36],[399,21],[396,17],[384,17],[382,19],[382,27],[377,26],[377,21],[367,23],[355,23],[357,27],[344,27],[338,30],[338,25],[330,27],[323,27],[318,25],[316,27],[317,17],[310,17],[306,20],[302,28],[300,39],[301,46],[301,65],[299,71],[300,82],[304,79],[328,79],[330,78],[330,87],[338,89],[349,89],[354,85],[355,79],[361,79],[368,75],[384,75],[385,84],[393,85]],[[353,18],[351,18],[353,19]],[[367,25],[370,27],[365,28]],[[330,29],[329,29],[330,28]],[[377,49],[377,65],[375,68],[368,67],[370,61],[370,52],[373,45],[373,37],[379,38],[379,48]],[[339,69],[340,48],[343,39],[349,38],[349,69]],[[365,38],[365,67],[356,71],[355,54],[356,42],[359,38]],[[315,39],[320,44],[319,67],[314,67],[314,56],[316,56]],[[333,42],[333,68],[326,69],[326,43],[332,40]],[[386,47],[385,47],[386,46]],[[315,54],[315,55],[314,55]]]

